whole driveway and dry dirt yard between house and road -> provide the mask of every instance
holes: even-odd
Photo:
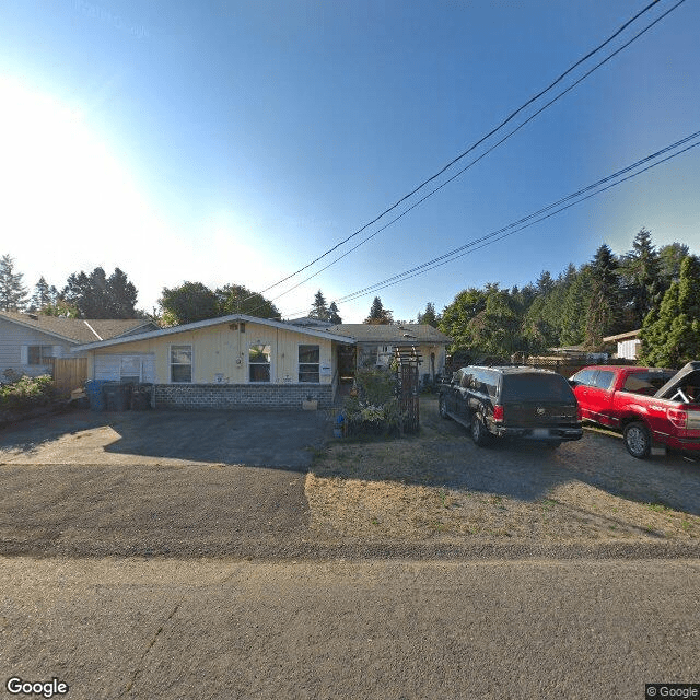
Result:
[[[366,443],[332,441],[322,412],[301,411],[73,413],[3,430],[0,555],[700,551],[697,463],[639,462],[588,431],[558,451],[481,450],[435,404],[421,400],[419,436]]]

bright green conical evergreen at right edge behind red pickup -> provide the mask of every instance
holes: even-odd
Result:
[[[651,366],[680,368],[700,358],[700,260],[688,256],[680,279],[672,282],[658,311],[642,325],[640,361]]]

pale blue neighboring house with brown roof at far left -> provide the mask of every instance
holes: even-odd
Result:
[[[59,318],[0,312],[0,378],[8,370],[37,376],[50,372],[54,358],[78,357],[73,348],[93,340],[126,337],[158,326],[143,319]]]

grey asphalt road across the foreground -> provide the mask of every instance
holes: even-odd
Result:
[[[699,560],[5,558],[0,591],[3,684],[58,678],[71,700],[641,700],[700,681]]]

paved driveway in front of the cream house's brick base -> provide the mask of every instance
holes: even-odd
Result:
[[[0,555],[285,556],[313,411],[75,412],[0,431]]]

